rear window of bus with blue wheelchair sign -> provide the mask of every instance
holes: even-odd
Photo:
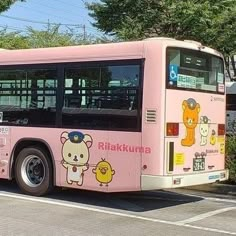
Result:
[[[220,57],[183,48],[167,48],[167,88],[224,93]]]

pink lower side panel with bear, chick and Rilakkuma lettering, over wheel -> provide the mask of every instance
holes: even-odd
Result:
[[[50,147],[55,184],[103,192],[140,190],[141,133],[12,127],[12,145],[22,138]],[[33,136],[32,136],[33,134]],[[76,142],[76,136],[83,140]],[[83,154],[84,165],[70,164]]]

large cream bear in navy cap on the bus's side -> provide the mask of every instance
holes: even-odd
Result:
[[[62,165],[67,169],[67,183],[81,186],[84,172],[88,170],[89,148],[92,146],[92,137],[78,131],[61,134]]]

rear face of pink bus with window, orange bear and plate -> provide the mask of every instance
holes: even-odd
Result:
[[[222,58],[167,47],[166,71],[165,174],[173,187],[227,179]]]

